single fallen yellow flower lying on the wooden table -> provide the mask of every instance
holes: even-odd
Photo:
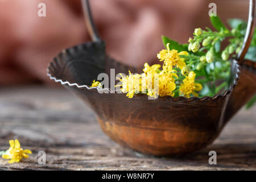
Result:
[[[28,155],[32,152],[30,150],[23,150],[23,148],[20,148],[19,140],[15,139],[10,140],[10,148],[5,152],[5,154],[2,155],[3,159],[11,159],[9,160],[9,163],[18,163],[22,158],[27,159]]]

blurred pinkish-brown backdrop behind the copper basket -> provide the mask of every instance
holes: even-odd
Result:
[[[46,17],[38,4],[46,3]],[[210,27],[209,3],[217,15],[247,19],[245,0],[93,0],[99,34],[109,55],[142,67],[156,63],[161,35],[186,43],[194,28]],[[0,0],[0,86],[52,84],[46,68],[64,48],[90,41],[80,0]]]

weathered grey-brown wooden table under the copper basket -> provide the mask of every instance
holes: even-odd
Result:
[[[256,169],[256,106],[242,109],[220,137],[203,150],[181,159],[155,158],[115,144],[102,133],[92,110],[62,88],[24,86],[0,90],[0,150],[18,138],[30,158],[6,170],[243,170]],[[217,152],[209,165],[208,152]],[[45,151],[47,163],[38,164]]]

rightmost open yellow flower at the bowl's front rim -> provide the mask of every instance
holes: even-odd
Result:
[[[192,93],[193,96],[198,97],[198,94],[195,91],[200,91],[202,89],[202,85],[195,83],[196,73],[189,72],[188,76],[186,76],[183,80],[183,83],[180,84],[180,93],[184,94],[185,97],[189,98]]]

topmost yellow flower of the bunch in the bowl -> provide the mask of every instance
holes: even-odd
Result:
[[[163,69],[167,69],[167,71],[171,71],[172,67],[177,66],[177,68],[182,69],[185,67],[184,58],[180,57],[180,55],[188,55],[188,52],[181,51],[178,52],[175,49],[170,50],[169,48],[170,43],[166,45],[167,49],[163,49],[157,55],[160,61],[164,61]]]

